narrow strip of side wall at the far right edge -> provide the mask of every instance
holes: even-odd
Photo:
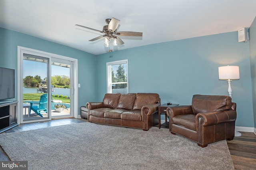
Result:
[[[256,18],[249,29],[251,75],[252,75],[252,101],[254,108],[254,127],[256,128]]]

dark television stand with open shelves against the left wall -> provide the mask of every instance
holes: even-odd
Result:
[[[0,133],[18,126],[17,103],[18,101],[8,101],[8,103],[0,103]]]

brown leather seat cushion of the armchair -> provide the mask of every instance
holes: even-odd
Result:
[[[176,125],[196,130],[196,115],[178,115],[172,118],[172,122]]]

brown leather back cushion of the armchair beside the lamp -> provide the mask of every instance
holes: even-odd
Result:
[[[192,109],[194,114],[231,109],[232,101],[229,96],[193,95]]]

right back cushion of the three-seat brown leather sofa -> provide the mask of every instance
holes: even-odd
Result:
[[[143,106],[152,105],[158,101],[159,95],[157,93],[137,93],[132,110],[141,110]]]

